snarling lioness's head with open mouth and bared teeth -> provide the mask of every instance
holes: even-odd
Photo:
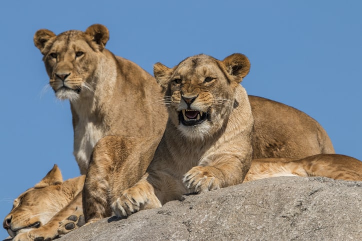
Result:
[[[226,124],[233,107],[235,88],[247,75],[250,62],[234,53],[220,61],[199,54],[173,68],[154,64],[153,72],[164,89],[169,119],[191,139],[212,136]]]

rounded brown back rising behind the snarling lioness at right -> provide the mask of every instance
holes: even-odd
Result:
[[[334,153],[326,131],[304,112],[257,96],[249,95],[249,101],[254,116],[252,159]]]

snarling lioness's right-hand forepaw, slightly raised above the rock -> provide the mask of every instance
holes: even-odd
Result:
[[[210,167],[196,166],[183,176],[183,184],[193,193],[204,193],[220,189],[221,182],[209,170]]]

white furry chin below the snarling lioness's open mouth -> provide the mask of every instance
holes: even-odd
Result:
[[[207,121],[194,126],[184,126],[181,123],[177,126],[177,129],[187,139],[199,141],[204,140],[210,136],[211,125]]]

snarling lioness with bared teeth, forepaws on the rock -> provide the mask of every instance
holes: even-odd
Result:
[[[149,141],[116,136],[97,143],[83,189],[86,221],[112,212],[124,217],[160,207],[188,192],[241,183],[252,152],[253,118],[239,84],[249,66],[242,54],[222,61],[196,55],[173,68],[156,63],[154,76],[165,92],[169,114],[164,134],[157,147]],[[124,175],[133,168],[130,160],[139,158],[139,150],[147,157],[141,163],[152,159],[149,167],[141,165]]]

